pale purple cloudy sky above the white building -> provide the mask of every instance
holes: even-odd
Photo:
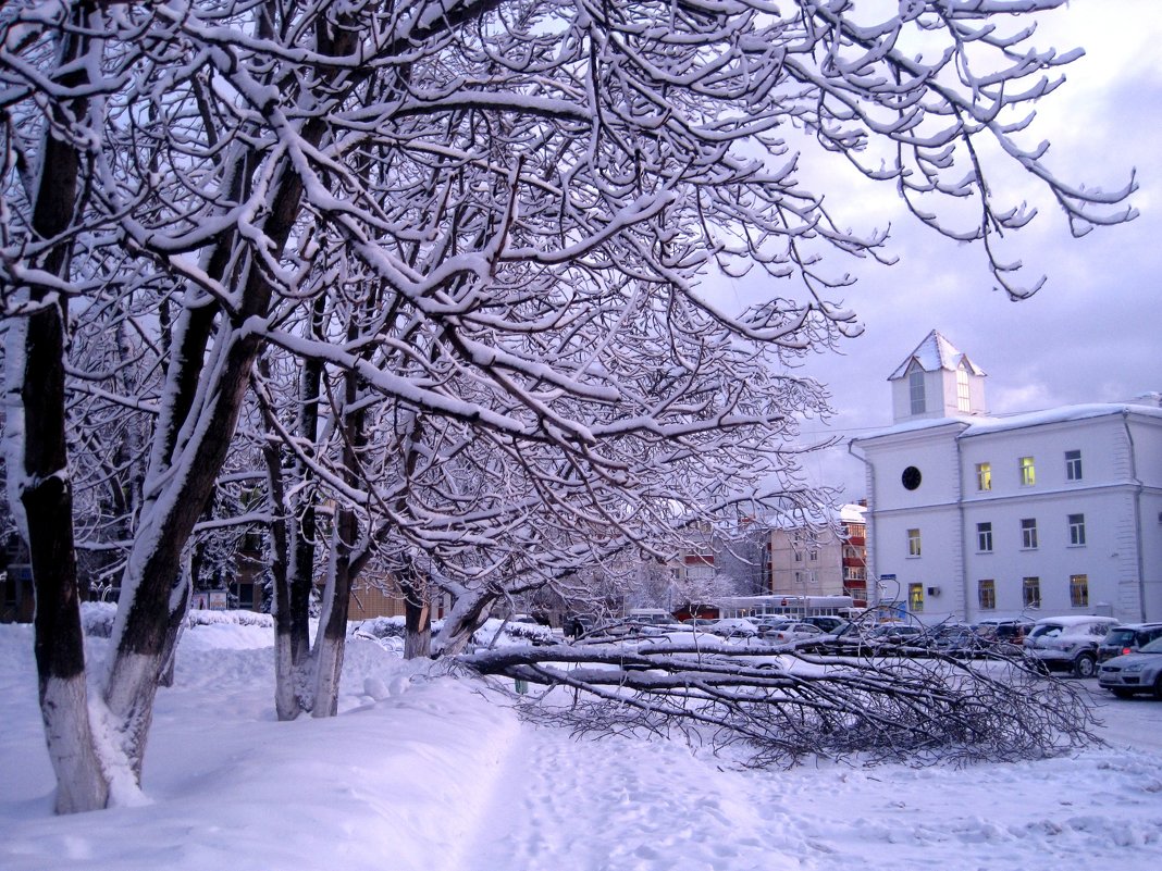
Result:
[[[920,230],[890,197],[873,204],[856,196],[861,209],[891,221],[901,261],[844,264],[860,276],[845,302],[865,333],[841,355],[816,357],[803,368],[830,386],[838,412],[820,434],[846,439],[889,425],[887,376],[933,329],[988,373],[995,413],[1162,390],[1160,13],[1160,0],[1073,0],[1038,31],[1039,48],[1085,49],[1066,67],[1066,84],[1037,105],[1034,130],[1053,143],[1049,166],[1105,189],[1121,187],[1136,168],[1140,190],[1131,202],[1140,215],[1074,239],[1063,214],[1038,203],[1039,216],[1018,233],[1024,262],[1048,276],[1031,300],[1011,302],[990,289],[978,246]],[[729,291],[745,298],[752,290]],[[806,470],[815,483],[845,487],[851,499],[865,496],[862,466],[846,451],[813,456]]]

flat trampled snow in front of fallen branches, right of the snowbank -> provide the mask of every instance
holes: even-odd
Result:
[[[1153,735],[1162,705],[1140,717]],[[1143,749],[1114,741],[967,770],[751,772],[665,742],[526,726],[457,871],[992,871],[1031,856],[1048,868],[1156,871],[1162,760]]]

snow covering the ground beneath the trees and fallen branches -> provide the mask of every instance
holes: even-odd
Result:
[[[279,724],[270,629],[196,626],[158,696],[150,804],[56,818],[31,631],[0,626],[0,869],[746,871],[1162,863],[1162,703],[1111,743],[968,769],[746,771],[680,743],[576,741],[352,640],[340,715]],[[89,640],[93,656],[107,642]],[[1096,690],[1096,688],[1095,688]],[[1097,696],[1097,693],[1096,693]]]

